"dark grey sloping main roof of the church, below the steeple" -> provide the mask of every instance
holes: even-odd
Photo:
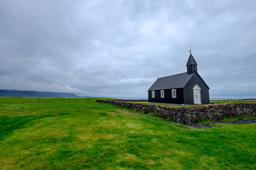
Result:
[[[158,78],[156,79],[154,84],[149,88],[149,91],[183,88],[184,86],[186,86],[186,84],[191,79],[191,77],[193,77],[194,74],[195,73],[187,74],[187,72],[184,72],[169,77]]]

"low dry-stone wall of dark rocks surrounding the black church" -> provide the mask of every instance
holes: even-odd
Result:
[[[97,100],[100,103],[110,103],[142,113],[156,113],[161,118],[169,118],[176,123],[195,124],[201,120],[220,120],[238,115],[255,115],[256,103],[230,103],[204,106],[184,106],[171,108],[154,104],[133,103],[129,101]]]

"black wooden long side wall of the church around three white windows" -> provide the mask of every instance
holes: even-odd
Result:
[[[149,93],[149,102],[154,103],[176,103],[182,104],[183,102],[183,89],[176,89],[176,98],[172,98],[171,89],[164,90],[164,98],[161,98],[161,91],[155,91],[155,97],[151,97],[151,91]]]

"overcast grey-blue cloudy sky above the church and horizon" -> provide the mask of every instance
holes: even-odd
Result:
[[[186,72],[210,98],[256,98],[255,0],[1,0],[0,89],[147,98]]]

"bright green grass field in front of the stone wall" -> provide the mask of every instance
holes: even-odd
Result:
[[[196,129],[96,98],[0,98],[0,169],[256,169],[256,124]]]

